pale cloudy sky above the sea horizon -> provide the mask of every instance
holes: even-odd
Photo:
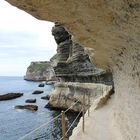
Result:
[[[49,60],[56,53],[53,25],[0,0],[0,76],[24,76],[31,61]]]

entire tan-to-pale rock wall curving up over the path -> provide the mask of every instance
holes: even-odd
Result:
[[[122,140],[139,140],[140,1],[7,1],[38,19],[63,23],[76,41],[90,48],[90,55],[96,65],[113,71],[114,109],[110,112],[114,117],[107,119],[106,124],[113,122],[116,129],[111,125],[108,131],[110,135],[114,130],[120,132],[113,139],[120,137]],[[98,111],[99,116],[104,114]],[[95,118],[97,116],[95,114]],[[98,127],[98,121],[94,127],[97,129],[93,129],[93,135],[106,134],[106,127]],[[102,140],[102,137],[96,139]],[[108,140],[107,137],[104,139]]]

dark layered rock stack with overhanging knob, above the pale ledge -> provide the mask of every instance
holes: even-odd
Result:
[[[96,68],[84,48],[71,39],[60,23],[55,23],[52,34],[57,43],[58,63],[54,67],[57,77],[64,82],[105,82],[112,84],[112,75]]]

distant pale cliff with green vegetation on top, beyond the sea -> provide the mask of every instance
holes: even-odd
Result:
[[[38,61],[31,62],[30,66],[27,68],[25,80],[32,81],[48,81],[55,80],[55,72],[49,61]]]

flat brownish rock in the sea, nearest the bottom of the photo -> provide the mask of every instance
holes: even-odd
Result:
[[[17,106],[15,106],[15,108],[16,109],[28,109],[28,110],[34,110],[34,111],[38,110],[37,105],[17,105]]]

